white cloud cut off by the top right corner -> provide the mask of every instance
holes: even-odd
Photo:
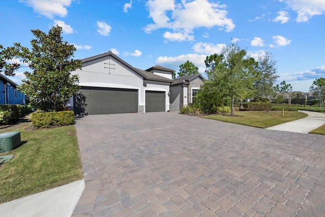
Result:
[[[320,0],[308,0],[308,1],[296,1],[286,0],[284,1],[290,9],[297,12],[297,22],[307,22],[315,15],[322,15],[325,13],[325,1]]]

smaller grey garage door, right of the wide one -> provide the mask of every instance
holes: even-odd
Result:
[[[165,111],[165,92],[146,91],[146,112]]]

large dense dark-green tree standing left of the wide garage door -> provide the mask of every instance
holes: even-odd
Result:
[[[15,44],[20,58],[32,70],[24,73],[26,79],[19,89],[36,108],[59,111],[79,89],[78,76],[71,72],[81,68],[81,60],[72,58],[76,48],[62,40],[62,27],[53,26],[48,34],[39,29],[31,32],[35,36],[30,41],[31,50]]]

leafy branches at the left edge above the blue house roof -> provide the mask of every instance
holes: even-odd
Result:
[[[4,72],[5,75],[14,76],[15,71],[19,69],[19,63],[7,63],[8,60],[18,57],[19,50],[16,46],[4,48],[0,45],[0,73]]]

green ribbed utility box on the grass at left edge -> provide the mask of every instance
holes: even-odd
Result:
[[[0,134],[0,153],[11,151],[20,145],[20,132]]]

